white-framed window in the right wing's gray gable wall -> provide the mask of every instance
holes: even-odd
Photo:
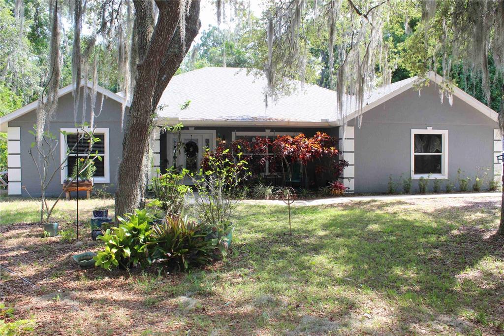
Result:
[[[448,130],[411,130],[411,178],[447,179]]]

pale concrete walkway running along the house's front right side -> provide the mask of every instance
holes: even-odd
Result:
[[[388,200],[402,200],[402,199],[422,199],[422,198],[481,198],[481,197],[501,197],[501,192],[493,193],[452,193],[452,194],[426,194],[426,195],[376,195],[376,196],[350,196],[350,197],[333,197],[333,198],[322,198],[322,199],[310,199],[310,200],[297,200],[292,205],[293,206],[311,206],[311,205],[328,205],[328,204],[340,204],[340,203],[350,203],[355,201],[388,201]],[[251,200],[241,200],[241,204],[258,204],[258,205],[285,205],[282,200],[265,200],[265,199],[251,199]]]

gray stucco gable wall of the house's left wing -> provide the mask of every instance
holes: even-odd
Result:
[[[81,97],[83,93],[81,91]],[[87,97],[87,111],[86,111],[86,122],[90,121],[90,108],[91,101],[89,96]],[[81,98],[82,100],[82,98]],[[101,94],[97,94],[96,99],[96,109],[99,109],[101,102]],[[126,107],[128,109],[128,107]],[[101,114],[95,118],[95,126],[97,128],[108,128],[109,129],[109,175],[110,184],[112,186],[109,188],[110,192],[113,192],[116,185],[117,169],[122,155],[122,133],[121,133],[121,123],[120,123],[120,111],[121,104],[111,98],[106,96],[103,99],[103,107]],[[97,114],[95,110],[95,114]],[[77,116],[78,124],[81,124],[82,120],[82,102],[79,107],[79,114]],[[19,128],[20,130],[20,159],[21,159],[21,185],[25,186],[28,192],[33,197],[40,196],[40,180],[38,177],[37,169],[34,166],[32,157],[29,154],[31,143],[34,140],[33,135],[29,134],[28,131],[33,130],[33,125],[36,123],[36,111],[30,111],[29,113],[9,122],[9,129]],[[59,140],[59,130],[62,128],[74,128],[74,114],[73,114],[73,96],[72,93],[66,94],[59,97],[58,107],[55,116],[51,119],[49,123],[49,131],[57,137]],[[55,158],[59,160],[60,151],[59,144],[56,149]],[[58,161],[59,162],[59,161]],[[11,164],[9,164],[9,167]],[[14,165],[13,165],[14,167]],[[96,184],[98,187],[101,184]],[[60,174],[57,173],[52,179],[49,187],[47,188],[47,196],[57,196],[61,192],[61,180]],[[22,190],[22,196],[28,196],[26,190]],[[75,193],[73,193],[75,195]],[[85,197],[85,193],[81,193],[80,196]]]

